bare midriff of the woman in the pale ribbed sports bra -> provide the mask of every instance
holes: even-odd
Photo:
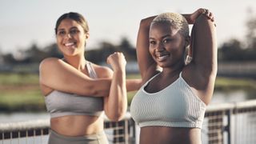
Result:
[[[201,144],[201,129],[146,126],[141,128],[140,144]]]

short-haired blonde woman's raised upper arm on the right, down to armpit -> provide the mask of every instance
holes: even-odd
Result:
[[[201,15],[194,23],[191,34],[193,60],[186,66],[186,82],[198,97],[208,104],[214,91],[217,74],[217,42],[214,22]]]

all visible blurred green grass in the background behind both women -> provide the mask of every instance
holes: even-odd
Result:
[[[139,74],[128,74],[127,78],[140,78]],[[253,79],[217,78],[215,90],[256,90]],[[0,74],[0,112],[46,111],[44,97],[38,85],[38,74]],[[128,93],[128,103],[134,97]]]

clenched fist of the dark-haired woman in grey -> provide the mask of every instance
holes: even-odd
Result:
[[[106,59],[106,62],[110,64],[113,70],[126,70],[126,58],[121,52],[114,52]]]

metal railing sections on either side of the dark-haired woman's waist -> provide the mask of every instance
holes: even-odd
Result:
[[[120,122],[110,122],[105,118],[104,130],[110,143],[135,143],[135,124],[126,113]],[[50,132],[50,120],[0,123],[0,144],[45,144]]]

